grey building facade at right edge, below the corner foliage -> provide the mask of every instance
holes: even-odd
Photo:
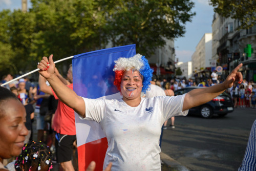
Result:
[[[226,77],[230,71],[242,62],[243,67],[240,71],[243,77],[256,82],[256,26],[238,30],[239,26],[240,23],[237,19],[215,15],[212,22],[212,32],[216,33],[215,37],[219,41],[219,47],[215,52],[214,43],[212,44],[212,58],[218,56],[217,65],[222,66],[223,77]],[[247,45],[254,50],[250,57],[246,51],[248,49]]]

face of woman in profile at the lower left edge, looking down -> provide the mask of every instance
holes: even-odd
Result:
[[[6,159],[17,156],[24,146],[28,130],[25,126],[26,111],[21,102],[8,99],[0,106],[3,115],[0,118],[0,158]]]

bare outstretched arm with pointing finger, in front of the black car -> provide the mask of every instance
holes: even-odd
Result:
[[[195,106],[201,105],[203,103],[206,103],[221,93],[223,93],[226,89],[231,88],[233,86],[233,83],[235,81],[238,81],[239,83],[242,82],[243,76],[241,72],[238,72],[238,70],[243,66],[242,63],[240,63],[239,66],[237,66],[226,78],[226,80],[223,83],[216,84],[215,86],[203,88],[203,89],[194,89],[188,92],[185,96],[184,102],[183,102],[183,108],[182,110],[188,110],[190,108],[193,108]]]

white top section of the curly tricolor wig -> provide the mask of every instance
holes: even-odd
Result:
[[[144,66],[141,57],[142,55],[140,54],[136,54],[130,58],[120,57],[114,61],[115,67],[113,71],[129,71],[130,69],[135,69],[139,71]]]

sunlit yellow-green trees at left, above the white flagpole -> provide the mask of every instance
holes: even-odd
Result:
[[[4,55],[0,57],[3,61],[0,71],[19,74],[35,69],[42,56],[54,54],[54,60],[58,60],[106,44],[106,39],[100,37],[104,17],[97,2],[32,0],[31,3],[32,8],[26,13],[21,10],[0,13],[0,52]],[[70,60],[59,65],[68,65],[67,62]]]

